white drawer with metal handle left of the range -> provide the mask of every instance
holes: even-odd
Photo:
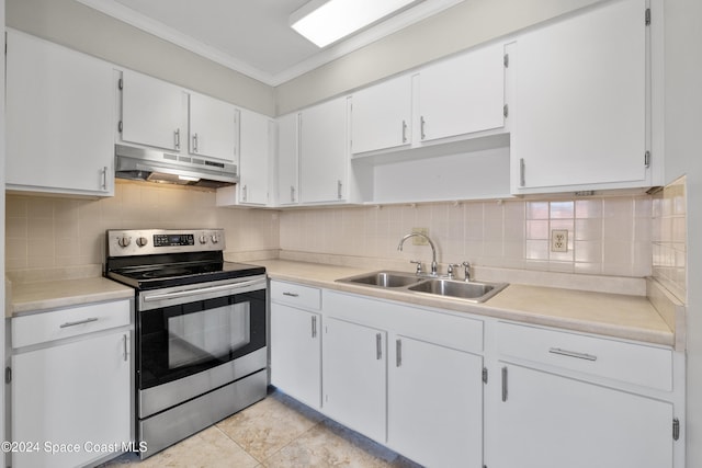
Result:
[[[13,318],[12,347],[128,326],[129,306],[129,300],[117,300]]]

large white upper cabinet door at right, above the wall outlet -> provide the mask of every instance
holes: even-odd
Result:
[[[512,191],[646,179],[644,0],[602,7],[517,41]]]

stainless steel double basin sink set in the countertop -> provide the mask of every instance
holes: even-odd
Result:
[[[390,271],[349,276],[337,279],[337,282],[451,297],[471,303],[484,303],[508,286],[508,283],[465,282],[448,277],[418,276],[412,273]]]

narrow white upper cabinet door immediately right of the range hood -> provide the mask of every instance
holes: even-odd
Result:
[[[269,155],[271,121],[261,114],[241,110],[241,180],[239,199],[245,204],[265,205],[269,193]]]

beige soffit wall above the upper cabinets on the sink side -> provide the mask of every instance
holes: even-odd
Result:
[[[466,0],[276,88],[279,115],[601,0]]]

